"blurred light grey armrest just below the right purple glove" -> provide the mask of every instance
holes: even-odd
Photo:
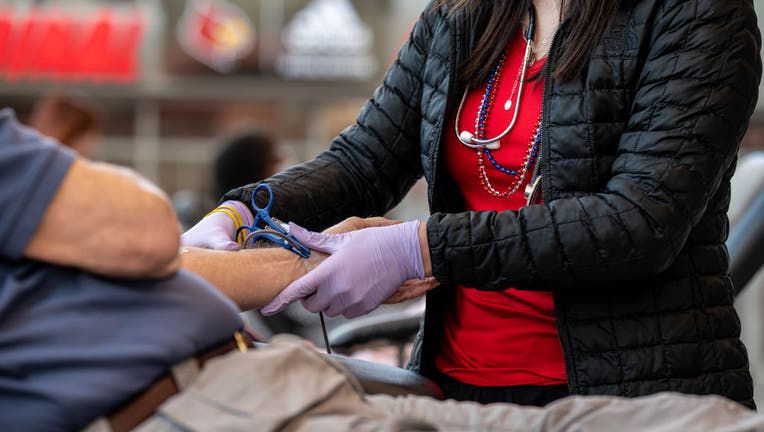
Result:
[[[357,318],[329,332],[333,348],[347,349],[375,339],[405,342],[419,329],[420,310],[402,310]]]

